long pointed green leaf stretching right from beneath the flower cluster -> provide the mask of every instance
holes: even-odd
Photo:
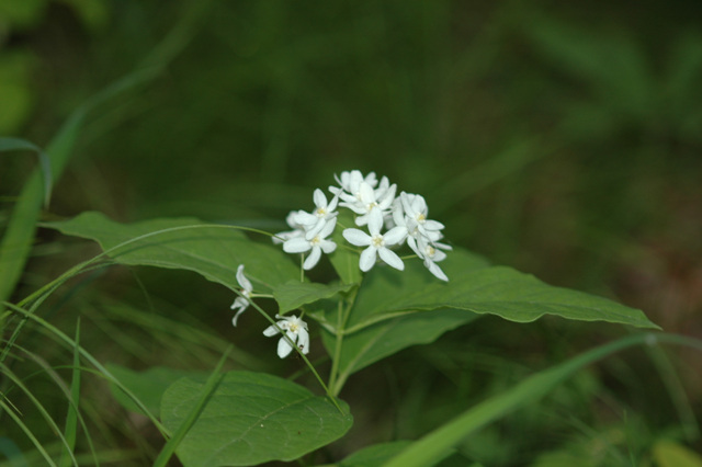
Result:
[[[491,314],[510,321],[530,322],[544,315],[581,321],[609,321],[639,328],[658,327],[641,310],[607,298],[547,285],[530,274],[480,263],[462,249],[441,263],[449,276],[443,283],[429,275],[420,262],[407,262],[403,272],[375,267],[363,282],[349,327],[373,322],[378,315],[404,310],[456,308]]]

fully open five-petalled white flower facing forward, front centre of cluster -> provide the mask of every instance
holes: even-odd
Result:
[[[380,255],[390,266],[396,270],[403,271],[405,264],[403,260],[387,247],[400,243],[406,235],[407,229],[404,227],[394,227],[385,235],[381,235],[381,227],[383,226],[383,216],[380,210],[373,210],[369,218],[369,231],[371,235],[365,234],[359,229],[346,229],[343,231],[343,238],[351,244],[356,247],[366,247],[361,252],[361,259],[359,266],[361,271],[366,272],[375,264],[376,255]]]

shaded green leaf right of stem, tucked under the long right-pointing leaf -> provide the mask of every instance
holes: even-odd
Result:
[[[339,356],[338,385],[343,385],[351,374],[361,368],[411,345],[431,343],[444,332],[477,317],[478,315],[455,309],[412,311],[346,335]],[[333,355],[335,337],[326,331],[321,337],[329,354]]]

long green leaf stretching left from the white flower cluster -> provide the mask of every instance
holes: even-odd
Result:
[[[299,274],[280,248],[254,242],[233,226],[197,219],[118,224],[100,213],[46,226],[97,240],[118,263],[194,271],[233,291],[240,288],[236,280],[239,264],[245,264],[256,292],[269,292]]]

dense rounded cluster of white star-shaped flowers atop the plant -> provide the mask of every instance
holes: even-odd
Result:
[[[443,224],[428,218],[429,208],[418,194],[401,192],[386,176],[377,179],[371,172],[363,175],[358,170],[342,172],[336,178],[338,185],[329,186],[333,195],[330,202],[319,189],[315,190],[315,208],[312,212],[294,210],[287,216],[290,231],[280,232],[273,241],[282,242],[288,253],[307,253],[303,267],[313,269],[321,253],[333,252],[337,244],[328,237],[337,225],[336,209],[343,207],[354,213],[356,227],[346,228],[343,238],[355,247],[364,247],[359,260],[361,271],[370,271],[377,259],[397,270],[405,264],[394,251],[407,246],[419,257],[424,266],[442,281],[449,277],[437,264],[446,258],[444,250],[451,247],[441,243]]]

